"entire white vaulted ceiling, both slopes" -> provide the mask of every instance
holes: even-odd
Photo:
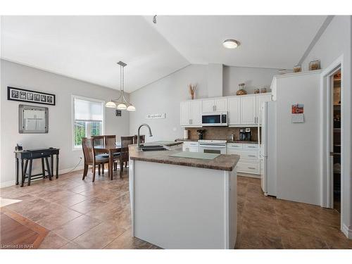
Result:
[[[132,92],[189,63],[291,68],[326,16],[3,16],[1,58]],[[237,49],[224,49],[234,38]]]

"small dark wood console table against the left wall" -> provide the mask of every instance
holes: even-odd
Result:
[[[19,184],[18,177],[19,177],[19,165],[21,170],[21,187],[25,183],[26,178],[26,171],[27,171],[27,164],[28,161],[30,163],[30,170],[28,175],[28,185],[30,185],[30,179],[32,176],[39,176],[32,178],[32,180],[46,177],[45,171],[48,172],[49,180],[51,180],[51,176],[54,176],[54,155],[56,155],[56,179],[58,178],[58,153],[60,149],[49,148],[49,149],[28,149],[25,151],[15,151],[15,171],[16,171],[16,185]],[[34,159],[41,158],[42,159],[42,173],[37,175],[32,175],[32,161]],[[48,158],[50,158],[51,165],[49,166]],[[46,161],[46,168],[44,169],[44,159]]]

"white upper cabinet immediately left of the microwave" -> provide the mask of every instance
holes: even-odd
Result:
[[[180,124],[182,126],[201,127],[201,100],[181,102]]]

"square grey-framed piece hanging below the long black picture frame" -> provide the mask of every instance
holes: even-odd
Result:
[[[49,131],[49,108],[42,106],[18,106],[20,134],[47,133]]]

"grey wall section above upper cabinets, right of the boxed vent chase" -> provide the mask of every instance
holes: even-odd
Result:
[[[269,91],[272,77],[278,73],[277,69],[224,66],[222,94],[236,95],[240,83],[246,84],[246,91],[249,94],[253,94],[256,88],[265,87]]]

